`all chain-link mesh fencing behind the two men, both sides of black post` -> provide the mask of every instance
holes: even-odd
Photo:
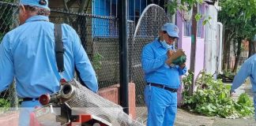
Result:
[[[0,2],[0,43],[3,35],[19,24],[18,7],[13,3]],[[119,83],[119,33],[116,17],[67,13],[63,9],[51,9],[50,20],[55,24],[70,24],[77,31],[96,70],[100,88]],[[151,5],[141,14],[136,28],[134,21],[128,21],[127,24],[129,79],[136,86],[137,118],[142,121],[147,112],[143,95],[145,80],[141,69],[141,50],[145,44],[157,37],[160,27],[167,21],[164,9]],[[13,88],[15,86],[6,91],[6,95],[1,96],[9,97],[11,106],[17,107],[17,95]]]

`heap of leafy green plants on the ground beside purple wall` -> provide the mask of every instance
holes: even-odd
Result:
[[[239,96],[236,102],[229,95],[230,86],[224,85],[221,80],[214,80],[212,75],[201,72],[201,77],[196,81],[193,96],[188,95],[191,84],[192,72],[183,78],[184,106],[193,112],[206,116],[220,116],[236,118],[250,116],[254,113],[253,102],[247,94]]]

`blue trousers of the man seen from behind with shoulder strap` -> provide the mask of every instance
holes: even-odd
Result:
[[[19,126],[29,126],[30,113],[35,109],[35,106],[41,106],[40,102],[26,101],[21,102],[20,115],[19,115]]]

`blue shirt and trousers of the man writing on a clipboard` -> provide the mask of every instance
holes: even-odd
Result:
[[[168,59],[167,50],[159,40],[147,44],[142,50],[141,63],[145,72],[145,103],[148,107],[148,126],[173,125],[177,113],[177,92],[171,92],[160,87],[153,87],[150,83],[157,83],[178,89],[179,76],[186,73],[186,67],[180,69],[165,64]]]

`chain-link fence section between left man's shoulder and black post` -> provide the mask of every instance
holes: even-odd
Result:
[[[119,35],[116,18],[51,10],[51,22],[70,24],[96,70],[99,86],[119,83]]]

